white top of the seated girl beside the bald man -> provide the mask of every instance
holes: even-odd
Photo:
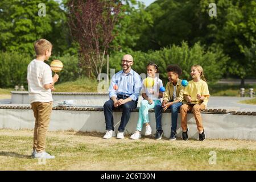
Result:
[[[146,93],[147,97],[153,101],[156,101],[156,100],[162,101],[161,98],[159,98],[158,96],[159,96],[159,88],[163,86],[163,81],[160,80],[160,78],[155,77],[154,86],[152,86],[152,88],[146,88],[146,86],[143,84],[144,80],[142,81],[142,93]],[[149,92],[151,89],[154,91],[154,94]]]

